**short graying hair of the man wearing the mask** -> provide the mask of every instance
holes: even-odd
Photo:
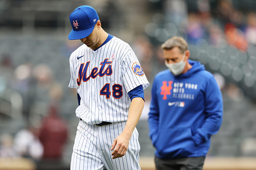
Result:
[[[166,40],[161,46],[162,49],[167,50],[174,47],[178,47],[181,53],[184,53],[184,51],[188,50],[188,43],[182,37],[174,36]]]

